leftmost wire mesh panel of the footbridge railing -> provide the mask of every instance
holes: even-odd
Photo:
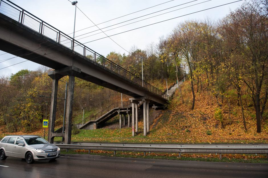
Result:
[[[7,17],[10,17],[11,19],[14,19],[15,21],[19,22],[20,20],[21,11],[5,3],[4,1],[1,1],[0,13],[6,15]]]

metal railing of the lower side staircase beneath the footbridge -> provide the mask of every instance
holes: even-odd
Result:
[[[115,102],[115,103],[111,104],[110,106],[106,107],[105,109],[103,109],[102,111],[98,112],[97,114],[92,114],[92,115],[84,118],[84,121],[81,120],[75,126],[80,127],[80,126],[82,126],[82,124],[81,124],[82,122],[86,123],[86,122],[91,121],[91,120],[96,120],[97,118],[101,117],[103,114],[111,111],[112,109],[126,108],[126,107],[131,107],[130,101]]]

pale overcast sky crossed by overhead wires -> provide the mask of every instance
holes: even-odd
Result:
[[[44,0],[11,0],[11,1],[19,5],[21,8],[29,11],[33,15],[39,17],[40,19],[47,22],[48,24],[54,26],[55,28],[58,28],[64,33],[70,34],[73,32],[75,6],[73,6],[68,0],[46,0],[46,1]],[[129,13],[133,13],[133,12],[136,12],[136,11],[148,8],[148,7],[152,7],[161,3],[165,3],[167,1],[168,0],[78,0],[77,6],[95,24],[99,24],[101,22],[105,22],[105,21],[108,21],[108,20],[123,16],[123,15],[127,15]],[[98,25],[98,27],[104,28],[113,24],[117,24],[117,23],[127,21],[133,18],[147,15],[150,13],[154,13],[156,11],[161,11],[163,9],[167,9],[167,8],[177,6],[183,3],[187,3],[190,1],[194,1],[194,0],[173,0],[168,3],[162,4],[162,5],[159,5],[159,6],[144,10],[144,11],[133,13],[131,15],[127,15],[125,17],[121,17],[119,19],[115,19],[115,20],[100,24]],[[173,11],[176,9],[180,9],[180,8],[183,8],[189,5],[194,5],[196,3],[201,3],[204,1],[207,1],[207,0],[196,0],[194,2],[187,3],[185,5],[170,8],[165,11],[147,15],[145,17],[140,17],[138,19],[124,22],[115,26],[111,26],[103,30],[109,30],[111,28],[115,28],[124,24],[139,21],[148,17],[152,17],[155,15]],[[200,11],[203,9],[208,9],[210,7],[215,7],[215,6],[230,3],[233,1],[235,0],[211,0],[202,4],[194,5],[192,7],[180,9],[171,13],[153,17],[153,18],[141,21],[141,22],[137,22],[137,23],[133,23],[130,25],[120,27],[120,28],[109,30],[105,33],[107,35],[113,35],[113,34],[127,31],[127,30],[131,30],[133,28],[145,26],[145,25],[152,24],[152,23],[159,22],[159,21],[164,21],[167,19],[171,19],[171,18],[178,17],[181,15],[186,15],[186,14]],[[183,22],[185,20],[204,20],[206,18],[210,18],[216,21],[217,19],[221,19],[224,16],[226,16],[230,12],[230,10],[234,10],[237,7],[239,7],[243,2],[244,1],[239,1],[239,2],[232,3],[226,6],[217,7],[214,9],[207,10],[207,11],[194,13],[194,14],[187,15],[184,17],[179,17],[176,19],[161,22],[158,24],[154,24],[154,25],[140,28],[137,30],[133,30],[130,32],[118,34],[118,35],[112,36],[111,38],[127,51],[130,51],[133,45],[143,50],[143,49],[146,49],[148,44],[152,42],[157,43],[160,36],[167,36],[168,34],[170,34],[172,29],[180,22]],[[90,20],[77,9],[75,31],[81,30],[83,28],[86,28],[92,25],[94,24],[90,22]],[[85,30],[76,32],[75,36],[85,34],[88,32],[92,32],[97,29],[98,28],[96,26],[92,28],[87,28]],[[87,35],[77,37],[76,39],[86,37],[88,35],[96,34],[98,32],[100,31],[92,32]],[[72,34],[70,34],[70,36],[72,36]],[[101,34],[97,34],[97,35],[93,35],[87,38],[80,39],[78,41],[80,41],[81,43],[85,43],[85,42],[89,42],[89,41],[96,40],[96,39],[103,38],[103,37],[105,37],[105,34],[101,33]],[[123,53],[128,54],[128,52],[123,50],[121,47],[119,47],[109,38],[104,38],[101,40],[87,43],[86,46],[88,46],[89,48],[95,50],[96,52],[104,56],[109,54],[111,51],[120,52],[121,54]],[[4,54],[4,53],[5,52],[0,51],[0,54]],[[11,54],[1,55],[0,62],[1,60],[11,58],[11,57],[14,57],[14,56]],[[23,58],[16,57],[8,61],[1,62],[0,69],[3,67],[7,67],[10,65],[22,62],[24,60],[25,59]],[[40,65],[33,63],[31,61],[23,62],[21,64],[17,64],[11,67],[7,67],[5,69],[1,69],[0,76],[2,75],[8,76],[11,73],[18,72],[21,69],[34,70],[38,66]]]

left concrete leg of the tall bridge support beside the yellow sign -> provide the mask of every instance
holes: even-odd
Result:
[[[58,95],[58,83],[59,79],[63,76],[61,75],[49,75],[52,80],[52,91],[51,91],[51,105],[50,105],[50,114],[48,122],[48,142],[54,142],[54,129],[55,129],[55,120],[56,120],[56,108],[57,108],[57,95]]]

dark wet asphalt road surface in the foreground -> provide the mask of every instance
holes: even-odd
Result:
[[[23,159],[8,157],[0,161],[0,177],[267,178],[268,164],[134,159],[93,155],[62,155],[55,161],[35,161],[34,164],[27,164]]]

